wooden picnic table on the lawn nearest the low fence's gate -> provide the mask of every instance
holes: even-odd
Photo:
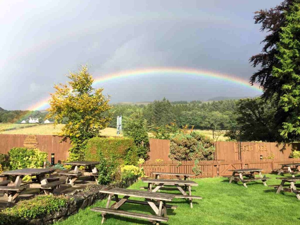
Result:
[[[257,181],[257,180],[261,180],[263,185],[267,186],[266,181],[267,179],[270,179],[269,177],[266,176],[262,176],[262,169],[258,169],[258,168],[250,168],[250,169],[238,169],[238,170],[229,170],[232,171],[232,176],[229,179],[229,184],[232,181],[241,181],[244,185],[244,187],[247,187],[246,182],[249,181]],[[255,177],[254,173],[258,173],[259,177]],[[238,175],[236,175],[238,174]],[[238,177],[235,177],[238,176]],[[244,178],[244,177],[245,178]]]

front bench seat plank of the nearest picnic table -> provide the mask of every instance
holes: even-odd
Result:
[[[123,211],[123,210],[118,210],[118,209],[110,209],[110,208],[94,207],[94,208],[91,208],[91,211],[119,215],[119,216],[126,216],[126,217],[134,217],[134,218],[146,219],[146,220],[162,221],[162,222],[167,222],[169,220],[168,217],[156,216],[156,215],[151,215],[151,214],[142,214],[142,213],[136,213],[136,212],[128,212],[128,211]]]

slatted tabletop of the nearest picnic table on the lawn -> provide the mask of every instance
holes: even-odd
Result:
[[[118,187],[114,187],[106,190],[105,189],[99,190],[99,192],[107,193],[107,194],[118,194],[123,196],[132,196],[138,198],[156,199],[162,201],[172,201],[172,199],[175,197],[175,195],[173,194],[142,191],[142,190],[130,190],[130,189],[124,189]]]

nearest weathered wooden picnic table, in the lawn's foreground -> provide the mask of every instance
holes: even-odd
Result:
[[[173,198],[175,197],[175,195],[173,194],[153,193],[148,191],[129,190],[117,187],[99,190],[99,192],[108,194],[106,208],[94,207],[91,208],[91,210],[102,213],[101,223],[104,223],[105,214],[114,214],[119,216],[146,219],[153,222],[153,224],[155,224],[155,222],[156,224],[159,224],[160,221],[168,221],[169,218],[167,216],[167,208],[176,208],[176,206],[166,204],[167,201],[170,202],[173,200]],[[124,197],[122,199],[119,199],[120,195]],[[112,198],[112,196],[115,196],[115,198]],[[130,197],[144,198],[145,201],[129,200]],[[110,202],[112,200],[116,202],[110,205]],[[154,200],[158,202],[155,202]],[[155,215],[119,210],[120,206],[126,202],[139,205],[149,205],[153,209]]]

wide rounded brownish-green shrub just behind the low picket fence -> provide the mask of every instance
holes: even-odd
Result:
[[[213,140],[203,134],[177,134],[170,143],[172,160],[213,160]]]

